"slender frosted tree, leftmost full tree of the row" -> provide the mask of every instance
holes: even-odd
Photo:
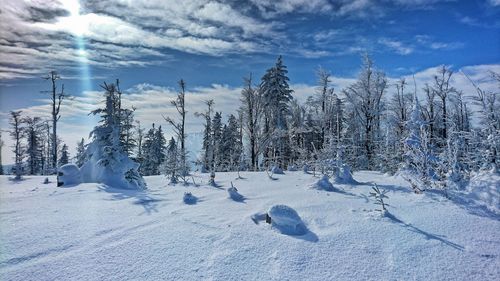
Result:
[[[23,174],[23,160],[26,156],[26,148],[22,143],[23,127],[21,120],[21,111],[11,111],[10,112],[10,125],[12,130],[10,131],[10,136],[14,141],[12,145],[12,152],[14,153],[14,174],[15,179],[20,180]]]

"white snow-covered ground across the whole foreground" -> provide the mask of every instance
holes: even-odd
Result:
[[[218,173],[219,187],[208,174],[195,175],[198,187],[147,177],[145,192],[1,177],[0,280],[500,280],[500,214],[489,200],[498,176],[486,183],[493,192],[446,199],[369,171],[334,192],[312,189],[319,178],[301,171],[241,175]],[[230,181],[244,200],[229,198]],[[390,190],[386,217],[367,182]],[[307,233],[251,220],[276,204]]]

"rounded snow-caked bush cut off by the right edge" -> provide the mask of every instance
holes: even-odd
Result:
[[[500,175],[496,172],[478,173],[467,186],[469,199],[500,214]]]

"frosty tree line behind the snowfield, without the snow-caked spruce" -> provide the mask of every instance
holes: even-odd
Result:
[[[500,81],[499,74],[490,74]],[[174,137],[167,141],[165,128],[155,124],[146,132],[134,120],[135,108],[120,108],[115,124],[118,144],[139,164],[141,175],[166,174],[173,181],[185,179],[192,167],[219,172],[308,166],[335,173],[339,163],[345,163],[353,169],[401,173],[416,191],[424,190],[500,166],[498,92],[485,91],[467,77],[475,92],[464,93],[453,85],[453,75],[465,74],[442,66],[429,84],[416,85],[414,79],[404,78],[391,84],[364,56],[356,81],[340,91],[333,88],[332,75],[318,69],[316,92],[299,103],[280,56],[259,81],[252,75],[244,78],[240,105],[226,122],[213,100],[205,102],[204,112],[194,113],[204,125],[199,159],[188,159],[184,80],[171,102],[177,115],[163,116]],[[20,112],[11,112],[15,163],[30,174],[53,171],[68,161],[82,165],[89,158],[83,139],[73,159],[58,141],[59,107],[66,94],[64,87],[57,90],[57,74],[47,79],[52,82],[52,126],[38,117],[21,118]],[[424,93],[420,97],[419,87]],[[116,92],[113,99],[121,104],[119,81],[104,89],[107,95]],[[473,111],[471,104],[479,110]]]

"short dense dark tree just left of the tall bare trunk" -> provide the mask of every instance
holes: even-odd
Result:
[[[40,117],[24,117],[22,118],[24,124],[24,136],[27,140],[26,153],[27,153],[27,166],[30,175],[36,175],[42,172],[42,154],[41,147],[43,123]]]

